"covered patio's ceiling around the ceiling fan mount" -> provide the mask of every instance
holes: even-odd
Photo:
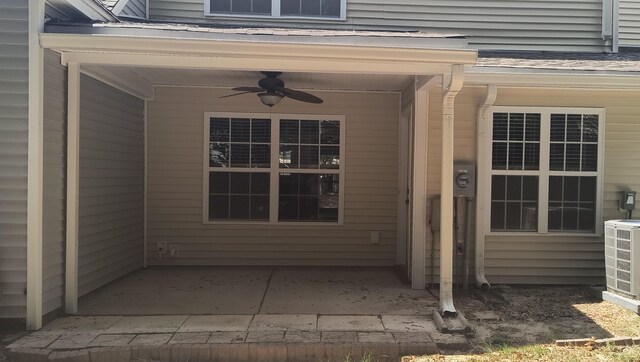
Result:
[[[100,74],[104,77],[136,79],[138,82],[142,81],[154,86],[252,87],[257,85],[260,78],[264,77],[259,70],[236,71],[102,65],[86,65],[83,66],[83,70],[89,74]],[[413,79],[410,75],[302,72],[284,72],[280,78],[285,81],[287,87],[294,89],[380,92],[400,92]]]

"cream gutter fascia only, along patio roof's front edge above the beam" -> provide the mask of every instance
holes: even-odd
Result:
[[[85,34],[40,36],[45,48],[61,52],[107,52],[216,58],[309,59],[326,62],[413,62],[416,64],[473,65],[477,51],[468,49],[414,49],[355,45],[299,44],[211,39],[175,39]],[[398,69],[401,71],[401,69]]]

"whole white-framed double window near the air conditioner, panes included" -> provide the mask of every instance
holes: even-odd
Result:
[[[492,109],[493,232],[594,233],[601,182],[601,109]]]

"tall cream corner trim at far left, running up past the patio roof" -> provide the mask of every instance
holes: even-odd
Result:
[[[44,0],[29,0],[29,106],[27,164],[27,329],[42,327],[44,178]]]

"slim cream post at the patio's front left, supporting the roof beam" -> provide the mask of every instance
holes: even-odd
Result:
[[[67,247],[65,304],[67,314],[78,312],[78,211],[80,192],[80,65],[67,68]]]

